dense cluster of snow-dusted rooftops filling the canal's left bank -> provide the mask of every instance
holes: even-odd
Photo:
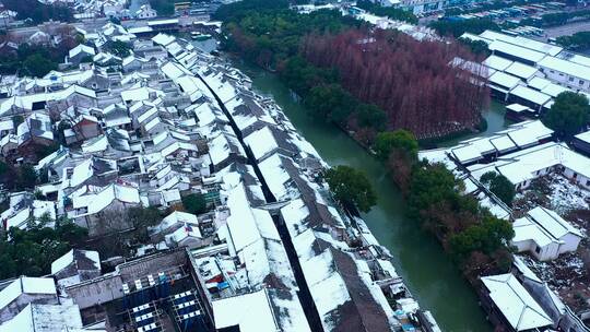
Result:
[[[5,81],[2,154],[38,178],[9,194],[2,226],[63,218],[91,239],[140,227],[148,238],[127,242],[139,258],[114,272],[101,262],[116,260],[76,248],[51,264],[57,287],[7,282],[0,331],[31,319],[80,331],[436,329],[387,249],[334,203],[326,163],[247,76],[169,35],[138,39],[109,23],[87,40],[69,54],[73,70]],[[110,54],[113,40],[130,55]],[[39,155],[47,146],[59,147]],[[185,212],[191,195],[205,212]],[[148,209],[166,216],[138,224],[130,211]]]

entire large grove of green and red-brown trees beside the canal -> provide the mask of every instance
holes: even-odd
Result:
[[[410,129],[423,139],[474,128],[488,100],[485,88],[449,66],[456,56],[473,58],[457,44],[371,34],[366,23],[338,11],[298,14],[281,1],[222,5],[214,19],[224,21],[226,49],[278,71],[312,116],[353,131],[365,145],[387,129]]]

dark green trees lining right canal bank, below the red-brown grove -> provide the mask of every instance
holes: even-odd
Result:
[[[411,132],[381,133],[375,146],[406,199],[408,216],[441,242],[469,280],[509,269],[514,237],[509,221],[495,217],[474,197],[463,194],[464,183],[445,165],[418,161],[418,144]],[[487,177],[492,191],[514,199],[514,186],[506,178]]]

